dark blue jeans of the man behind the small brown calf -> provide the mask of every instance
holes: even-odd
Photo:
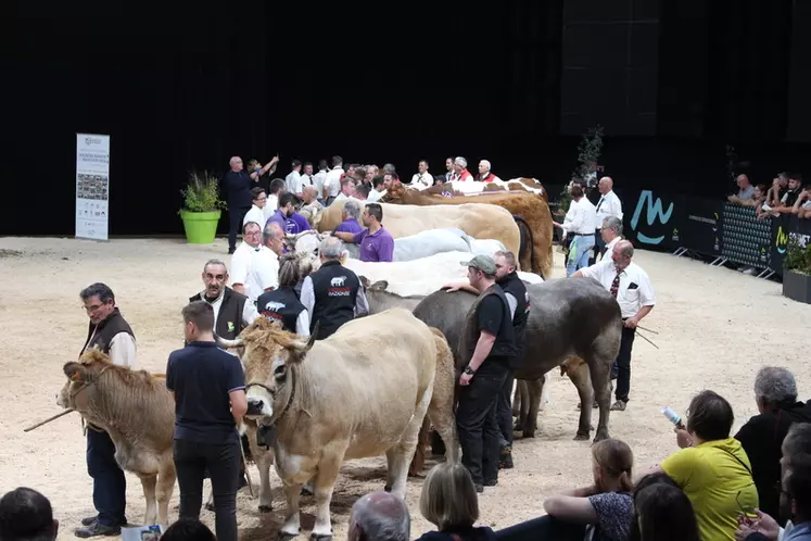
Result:
[[[93,478],[93,506],[103,526],[126,524],[127,480],[115,462],[115,445],[110,435],[87,429],[87,473]]]

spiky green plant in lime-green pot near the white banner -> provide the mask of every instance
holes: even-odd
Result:
[[[186,240],[192,244],[211,244],[217,235],[217,223],[221,210],[226,207],[219,199],[217,177],[207,171],[189,173],[189,184],[185,190],[183,207],[179,211],[186,229]]]

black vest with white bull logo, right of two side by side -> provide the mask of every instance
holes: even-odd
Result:
[[[318,323],[317,340],[330,337],[338,328],[355,317],[355,301],[360,288],[355,273],[339,261],[328,261],[309,275],[313,280],[315,305],[309,315],[309,331]]]

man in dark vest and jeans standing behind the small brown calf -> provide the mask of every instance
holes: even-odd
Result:
[[[104,284],[93,284],[79,293],[90,317],[87,340],[81,353],[98,348],[117,365],[135,367],[135,335],[115,305],[113,290]],[[93,506],[98,515],[84,518],[76,530],[80,538],[117,536],[127,524],[127,481],[115,462],[115,444],[101,428],[87,427],[87,470],[93,478]]]

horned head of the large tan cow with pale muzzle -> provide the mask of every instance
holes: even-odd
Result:
[[[294,400],[296,373],[315,342],[317,330],[304,342],[282,330],[278,322],[259,317],[237,340],[218,340],[220,345],[241,349],[248,418],[270,425],[289,407]]]

